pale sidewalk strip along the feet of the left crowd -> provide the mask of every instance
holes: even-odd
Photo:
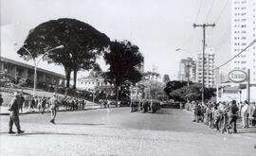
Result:
[[[86,110],[94,110],[94,109],[101,109],[101,105],[89,104],[89,105],[85,105],[85,108],[83,110],[75,110],[75,111],[65,110],[64,107],[60,107],[59,112],[78,112],[78,111],[86,111]],[[29,113],[38,113],[38,111],[36,109],[36,111],[27,112],[27,110],[24,109],[23,113],[20,113],[20,114],[29,114]],[[49,113],[48,109],[46,109],[46,113]],[[8,107],[0,106],[0,115],[9,115]]]

